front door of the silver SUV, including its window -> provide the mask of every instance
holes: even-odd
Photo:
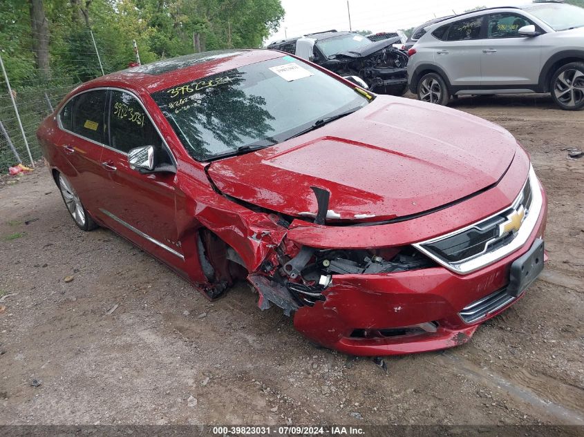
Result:
[[[538,84],[542,39],[519,35],[520,28],[531,24],[535,23],[519,12],[489,14],[480,61],[482,85],[524,88]]]

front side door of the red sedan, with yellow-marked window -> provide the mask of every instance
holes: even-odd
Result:
[[[141,174],[130,167],[132,148],[154,146],[158,164],[175,164],[167,145],[131,93],[111,90],[106,120],[109,146],[102,166],[108,173],[108,191],[100,209],[109,226],[158,258],[182,269],[182,248],[175,217],[176,175]]]

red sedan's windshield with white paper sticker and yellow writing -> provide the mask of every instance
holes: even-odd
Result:
[[[283,142],[368,103],[354,88],[291,56],[176,85],[152,98],[198,161]]]

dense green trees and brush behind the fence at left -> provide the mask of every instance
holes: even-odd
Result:
[[[133,40],[142,64],[204,50],[254,48],[283,16],[280,0],[1,0],[0,55],[32,159],[41,157],[39,122],[76,84],[102,70],[127,68],[135,61]],[[7,133],[0,128],[5,173],[18,162],[10,143],[21,160],[30,158],[3,78],[0,123]]]

